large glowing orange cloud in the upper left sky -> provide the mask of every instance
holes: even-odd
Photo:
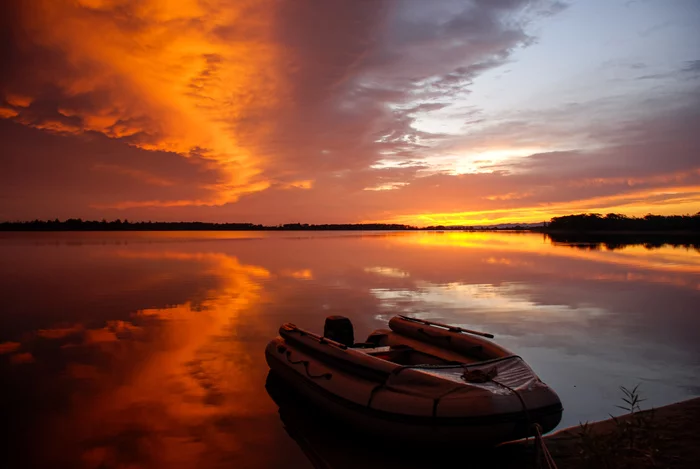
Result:
[[[33,43],[60,50],[66,62],[46,77],[62,93],[60,119],[32,108],[2,108],[0,116],[51,132],[99,132],[146,150],[197,154],[224,177],[211,198],[176,205],[233,202],[269,186],[251,146],[266,128],[251,120],[283,100],[282,52],[272,38],[276,6],[273,0],[23,3],[23,27]],[[4,97],[27,107],[34,101],[29,91]],[[162,203],[126,204],[149,205]]]

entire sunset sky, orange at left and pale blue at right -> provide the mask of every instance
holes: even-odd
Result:
[[[0,220],[700,212],[697,0],[8,0]]]

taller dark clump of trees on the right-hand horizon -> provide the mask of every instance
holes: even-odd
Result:
[[[620,213],[584,213],[554,217],[546,231],[621,231],[621,232],[700,232],[700,212],[695,215],[652,215],[628,217]]]

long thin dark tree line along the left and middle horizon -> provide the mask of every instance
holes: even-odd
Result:
[[[34,220],[1,222],[0,231],[318,231],[318,230],[415,230],[416,227],[386,223],[322,224],[287,223],[256,225],[254,223],[153,222],[129,220],[95,221],[69,218],[65,221]]]

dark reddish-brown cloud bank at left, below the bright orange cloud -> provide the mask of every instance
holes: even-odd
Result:
[[[124,146],[97,133],[60,135],[0,121],[0,218],[100,217],[115,200],[207,198],[221,174],[206,160]],[[31,177],[29,177],[31,175]]]

